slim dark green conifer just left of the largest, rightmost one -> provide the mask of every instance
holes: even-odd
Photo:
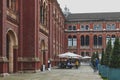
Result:
[[[109,39],[106,50],[105,50],[105,56],[104,56],[104,62],[106,66],[109,66],[111,51],[112,51],[112,45],[111,45],[111,39]]]

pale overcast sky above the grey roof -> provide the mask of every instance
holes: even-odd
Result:
[[[57,0],[71,13],[120,12],[120,0]]]

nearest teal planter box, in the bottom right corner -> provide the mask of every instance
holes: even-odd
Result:
[[[109,75],[108,80],[120,80],[120,68],[119,69],[110,68],[108,75]]]

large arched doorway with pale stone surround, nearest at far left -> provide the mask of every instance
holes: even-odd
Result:
[[[6,34],[6,57],[8,59],[8,73],[17,71],[17,48],[17,36],[12,30],[9,30]]]

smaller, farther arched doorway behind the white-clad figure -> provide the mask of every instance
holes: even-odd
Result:
[[[42,40],[41,41],[41,64],[45,65],[46,62],[46,58],[45,58],[46,54],[45,54],[45,41]]]

